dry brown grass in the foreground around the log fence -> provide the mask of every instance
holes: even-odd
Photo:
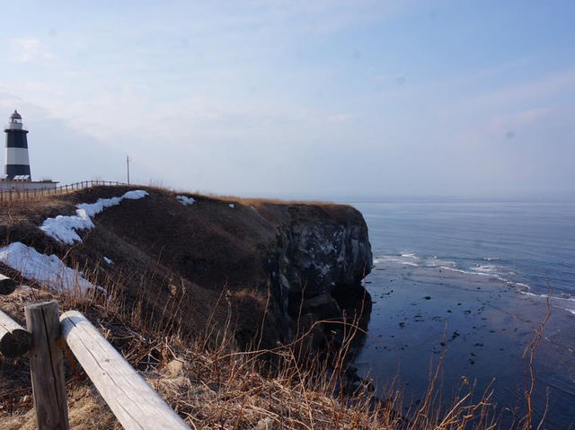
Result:
[[[228,310],[230,297],[221,297]],[[114,296],[79,297],[19,288],[1,297],[0,307],[22,321],[24,303],[49,298],[59,301],[61,311],[83,311],[192,428],[480,429],[492,428],[494,423],[495,407],[489,396],[473,402],[468,387],[452,410],[442,411],[438,389],[431,383],[429,401],[411,411],[411,421],[397,414],[401,393],[393,389],[385,403],[376,399],[368,382],[357,384],[353,391],[341,390],[348,382],[349,363],[344,356],[360,330],[353,324],[347,325],[343,347],[328,365],[314,355],[301,355],[301,343],[311,329],[288,345],[239,350],[231,311],[223,328],[208,324],[203,333],[190,337],[171,329],[169,319],[159,324],[141,318],[138,305],[128,309]],[[173,334],[166,336],[168,331]],[[66,358],[72,427],[119,428],[72,355],[67,353]],[[0,427],[33,428],[27,358],[4,360],[1,381]]]

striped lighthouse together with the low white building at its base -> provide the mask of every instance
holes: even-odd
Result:
[[[55,189],[52,180],[32,181],[30,157],[28,155],[28,130],[22,125],[22,116],[17,110],[8,118],[4,128],[6,146],[4,152],[4,174],[0,175],[0,190]]]

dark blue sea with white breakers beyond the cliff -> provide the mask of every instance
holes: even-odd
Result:
[[[472,392],[509,428],[529,397],[534,427],[575,428],[574,200],[350,204],[374,253],[355,364],[380,398],[409,416],[431,383],[444,410]]]

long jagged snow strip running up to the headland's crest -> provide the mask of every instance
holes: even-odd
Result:
[[[40,226],[40,230],[57,241],[73,244],[82,241],[78,230],[93,229],[92,217],[100,214],[106,207],[117,206],[124,199],[137,200],[147,196],[147,191],[137,189],[128,191],[122,197],[98,198],[95,203],[80,203],[76,205],[76,215],[57,215],[56,218],[47,218]]]

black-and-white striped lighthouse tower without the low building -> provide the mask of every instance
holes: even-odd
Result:
[[[28,157],[28,130],[22,127],[22,117],[17,110],[10,116],[6,133],[6,156],[4,158],[4,180],[31,181],[30,159]]]

